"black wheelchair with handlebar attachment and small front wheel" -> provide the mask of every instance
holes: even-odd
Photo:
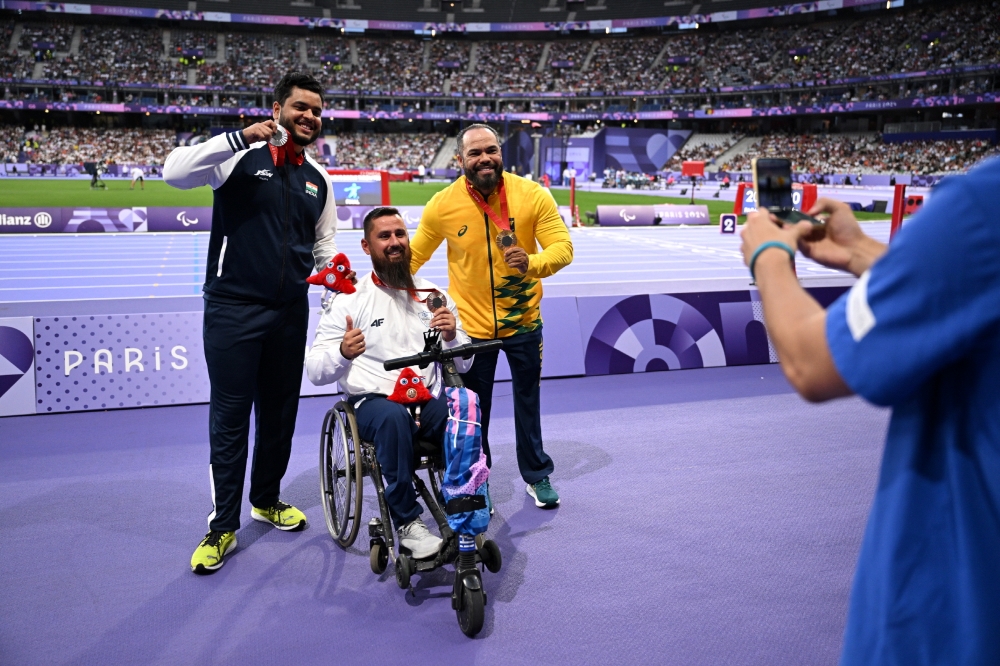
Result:
[[[462,380],[452,359],[470,358],[473,354],[499,349],[496,340],[472,343],[443,350],[437,331],[425,334],[425,351],[414,356],[386,361],[386,370],[419,365],[427,367],[440,363],[445,386],[462,386]],[[491,573],[500,571],[502,558],[497,544],[483,534],[475,537],[473,552],[459,551],[459,535],[448,525],[446,502],[441,492],[444,475],[443,443],[417,440],[414,442],[413,484],[424,505],[434,516],[443,541],[441,550],[433,558],[415,560],[409,554],[398,552],[395,530],[385,501],[382,468],[375,457],[375,444],[363,441],[358,432],[354,407],[346,400],[337,402],[323,419],[320,435],[319,475],[323,513],[326,527],[333,540],[343,549],[350,548],[357,539],[362,522],[362,494],[367,477],[378,498],[379,515],[368,522],[368,560],[371,570],[381,575],[391,559],[395,568],[396,584],[412,593],[414,574],[426,573],[445,565],[455,566],[451,605],[458,625],[466,636],[474,637],[483,627],[486,592],[477,566]],[[426,470],[430,489],[417,475]],[[454,501],[454,500],[453,500]],[[468,537],[466,537],[468,538]]]

